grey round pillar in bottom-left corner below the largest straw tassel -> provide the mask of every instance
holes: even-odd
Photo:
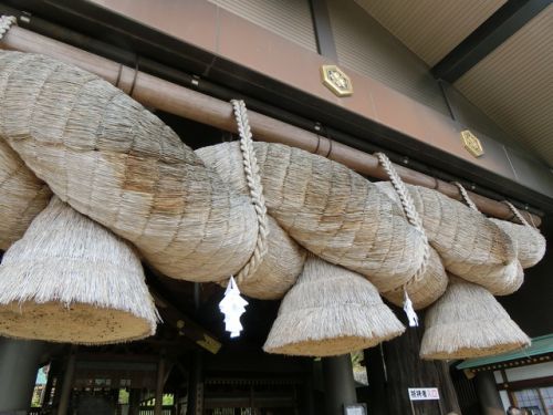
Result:
[[[0,339],[0,413],[27,413],[45,343]]]

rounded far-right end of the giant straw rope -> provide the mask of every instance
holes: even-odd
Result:
[[[546,242],[538,229],[508,220],[490,220],[511,237],[517,251],[517,258],[519,258],[522,268],[533,267],[542,260],[545,255]]]

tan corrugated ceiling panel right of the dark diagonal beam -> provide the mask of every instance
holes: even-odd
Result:
[[[553,4],[455,86],[553,166]]]

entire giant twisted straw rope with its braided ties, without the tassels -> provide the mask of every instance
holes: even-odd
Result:
[[[134,243],[160,272],[200,282],[236,274],[274,290],[252,289],[259,298],[284,294],[305,250],[363,274],[380,293],[417,282],[426,307],[445,290],[444,266],[484,287],[508,284],[522,253],[523,266],[533,264],[545,249],[528,224],[499,224],[404,185],[383,156],[395,189],[298,148],[253,143],[240,102],[232,103],[240,144],[197,153],[122,91],[46,56],[0,52],[0,102],[2,249],[50,191]],[[511,225],[528,228],[530,240],[523,245]],[[276,263],[285,281],[263,286]],[[422,278],[428,263],[431,277]]]

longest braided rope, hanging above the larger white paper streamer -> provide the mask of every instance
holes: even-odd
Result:
[[[255,157],[250,122],[248,120],[248,110],[246,108],[243,101],[232,100],[231,104],[238,125],[238,134],[240,135],[240,151],[242,153],[242,165],[246,174],[246,180],[250,191],[251,201],[255,209],[255,217],[258,219],[258,238],[255,240],[255,249],[248,260],[248,263],[243,266],[236,278],[237,283],[241,283],[255,273],[267,253],[269,224],[267,218],[265,199],[263,197],[263,186],[261,185],[261,177],[259,176],[258,159]]]

